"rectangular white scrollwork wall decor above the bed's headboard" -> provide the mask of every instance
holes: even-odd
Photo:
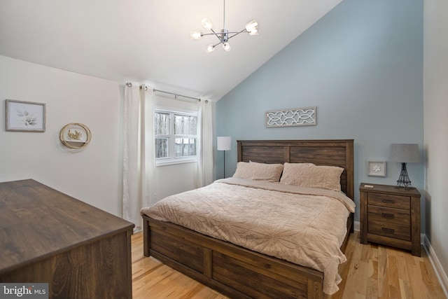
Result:
[[[316,107],[266,111],[266,127],[317,125]]]

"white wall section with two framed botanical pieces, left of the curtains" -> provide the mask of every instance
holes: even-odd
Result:
[[[0,181],[35,179],[121,215],[121,92],[116,82],[0,56]],[[45,132],[6,132],[5,100],[46,104]],[[86,148],[59,141],[67,123],[92,132]]]

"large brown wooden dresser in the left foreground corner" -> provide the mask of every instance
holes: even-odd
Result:
[[[132,298],[134,224],[34,180],[0,183],[0,282],[49,298]]]

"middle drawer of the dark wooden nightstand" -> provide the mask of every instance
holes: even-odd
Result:
[[[369,222],[384,222],[392,225],[411,225],[411,213],[405,209],[391,209],[385,207],[367,206]]]

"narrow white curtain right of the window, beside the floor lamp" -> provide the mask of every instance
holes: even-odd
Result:
[[[198,157],[197,187],[207,186],[213,182],[213,109],[212,103],[201,100],[197,103],[198,118]]]

